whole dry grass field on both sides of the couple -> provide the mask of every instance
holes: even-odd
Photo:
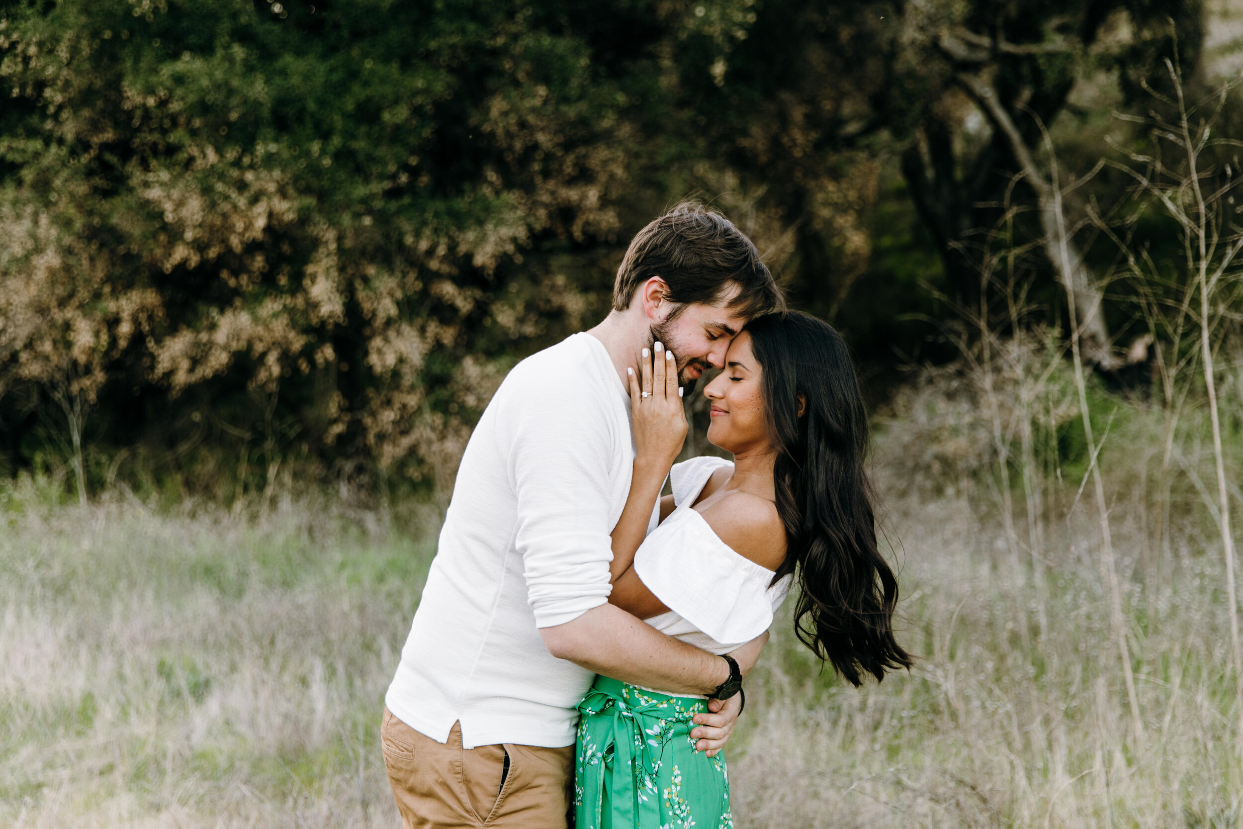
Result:
[[[1007,522],[996,475],[973,469],[970,403],[921,394],[878,452],[920,660],[856,691],[782,620],[728,751],[740,827],[1241,825],[1203,447],[1180,440],[1186,492],[1168,490],[1155,536],[1160,413],[1109,404],[1136,733],[1084,470],[1045,470],[1039,510],[1012,502]],[[154,511],[121,492],[80,508],[50,491],[0,490],[0,824],[397,825],[377,731],[433,513],[328,496]]]

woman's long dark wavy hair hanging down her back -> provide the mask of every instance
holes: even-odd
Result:
[[[876,548],[875,498],[864,457],[868,416],[845,342],[828,323],[788,311],[752,319],[768,436],[777,450],[777,511],[797,573],[794,630],[858,686],[910,667],[894,639],[897,579]],[[800,400],[804,410],[799,415]]]

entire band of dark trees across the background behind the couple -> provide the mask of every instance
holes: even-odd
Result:
[[[0,2],[0,471],[60,464],[83,497],[119,476],[236,498],[293,470],[443,488],[505,370],[603,316],[634,231],[696,194],[843,329],[875,399],[957,353],[940,332],[987,306],[997,234],[1035,322],[1066,331],[1059,280],[1100,307],[1085,359],[1114,377],[1146,328],[1093,232],[1134,181],[1098,162],[1146,140],[1112,113],[1162,111],[1167,58],[1199,94],[1207,20],[1180,0]],[[1062,273],[1050,188],[1091,172]],[[1172,227],[1122,232],[1160,261]]]

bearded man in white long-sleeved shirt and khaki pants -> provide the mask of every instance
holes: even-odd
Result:
[[[687,203],[644,227],[595,328],[510,372],[462,456],[440,546],[385,696],[403,825],[566,827],[576,706],[594,674],[711,695],[727,660],[608,604],[609,533],[630,490],[626,367],[654,342],[685,388],[747,319],[782,306],[755,245]],[[762,640],[736,653],[750,670]],[[716,751],[738,697],[699,715]]]

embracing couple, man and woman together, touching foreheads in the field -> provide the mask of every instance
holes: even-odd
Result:
[[[783,307],[751,240],[682,204],[600,324],[506,377],[384,700],[404,827],[732,827],[721,747],[792,587],[799,639],[853,684],[910,665],[854,367]],[[709,368],[733,462],[674,465]]]

